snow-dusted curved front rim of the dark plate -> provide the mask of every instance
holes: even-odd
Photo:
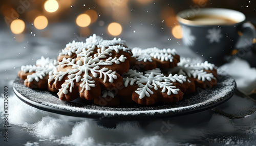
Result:
[[[227,74],[221,74],[221,76],[228,76],[228,78],[233,79],[232,77],[230,77]],[[13,84],[18,79],[19,78],[17,77],[14,80]],[[234,79],[233,79],[233,81],[234,81]],[[62,114],[62,115],[69,115],[69,116],[76,116],[76,117],[89,117],[89,118],[110,118],[110,117],[113,118],[113,117],[122,117],[122,116],[127,117],[127,118],[128,117],[141,117],[141,116],[143,116],[143,117],[145,117],[145,116],[146,117],[151,117],[151,116],[153,116],[153,117],[154,116],[173,117],[173,116],[177,116],[177,115],[184,115],[184,114],[189,114],[189,113],[194,113],[194,112],[200,112],[200,111],[214,108],[214,107],[228,101],[233,96],[234,91],[236,90],[236,86],[237,86],[236,82],[234,81],[234,88],[232,88],[231,94],[228,96],[226,95],[226,97],[222,100],[219,100],[215,103],[211,103],[209,105],[199,107],[199,108],[193,108],[193,107],[195,107],[195,105],[200,105],[200,103],[189,105],[189,106],[186,106],[185,110],[181,110],[181,111],[179,111],[179,109],[184,109],[184,107],[174,108],[175,111],[174,111],[174,109],[154,109],[154,110],[142,110],[142,111],[113,111],[113,110],[106,111],[106,110],[86,109],[86,111],[70,111],[68,109],[47,106],[47,105],[44,105],[41,103],[31,101],[28,98],[26,98],[24,95],[19,93],[15,89],[15,86],[13,86],[13,91],[16,94],[18,99],[20,99],[21,101],[23,101],[24,103],[26,103],[32,107],[35,107],[40,110],[48,111],[48,112]],[[208,102],[210,102],[210,101],[208,101]],[[55,105],[57,105],[57,104],[55,104]],[[57,105],[57,106],[60,107],[62,105]],[[120,113],[122,113],[122,114],[120,114]],[[76,115],[74,115],[74,114],[76,114]]]

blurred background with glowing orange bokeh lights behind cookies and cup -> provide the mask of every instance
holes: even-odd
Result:
[[[120,37],[131,48],[176,48],[182,56],[198,57],[182,44],[177,12],[229,8],[255,22],[253,6],[255,2],[247,0],[1,1],[1,79],[14,79],[21,65],[34,64],[40,56],[57,58],[68,42],[85,41],[94,33],[105,39]]]

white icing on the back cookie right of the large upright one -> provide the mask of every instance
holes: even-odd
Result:
[[[170,48],[163,48],[159,49],[157,47],[151,47],[151,48],[146,48],[146,49],[141,49],[139,47],[135,47],[132,50],[134,58],[138,61],[150,61],[152,62],[152,58],[159,59],[161,61],[170,61],[173,62],[173,55],[176,55],[176,50],[175,49],[170,49]]]

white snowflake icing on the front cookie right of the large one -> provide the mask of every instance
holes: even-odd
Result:
[[[146,71],[146,74],[143,75],[142,72],[137,72],[136,70],[130,69],[124,74],[124,76],[129,76],[126,79],[123,79],[124,86],[127,87],[129,83],[131,86],[134,85],[134,83],[137,84],[139,88],[135,92],[139,94],[140,99],[144,98],[144,96],[149,97],[150,94],[153,94],[154,92],[151,90],[151,88],[154,88],[155,90],[162,88],[162,93],[167,91],[168,95],[172,93],[178,94],[180,89],[173,86],[172,82],[178,81],[183,83],[186,81],[186,77],[183,75],[172,76],[172,74],[166,77],[161,74],[159,70],[159,68],[148,70]]]

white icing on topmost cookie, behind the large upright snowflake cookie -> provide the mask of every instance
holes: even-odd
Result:
[[[69,55],[71,56],[73,53],[80,54],[83,48],[91,48],[93,46],[97,46],[98,48],[101,47],[109,47],[109,46],[116,46],[113,49],[115,51],[123,50],[127,53],[131,54],[130,48],[124,47],[123,45],[126,45],[126,41],[121,40],[120,38],[116,39],[114,38],[113,40],[103,40],[102,37],[97,36],[96,34],[93,34],[93,36],[90,36],[89,38],[86,39],[86,42],[76,42],[72,41],[72,43],[68,43],[66,45],[66,49],[63,49],[61,53],[59,53],[59,56],[61,55]],[[118,53],[117,52],[117,53]]]

